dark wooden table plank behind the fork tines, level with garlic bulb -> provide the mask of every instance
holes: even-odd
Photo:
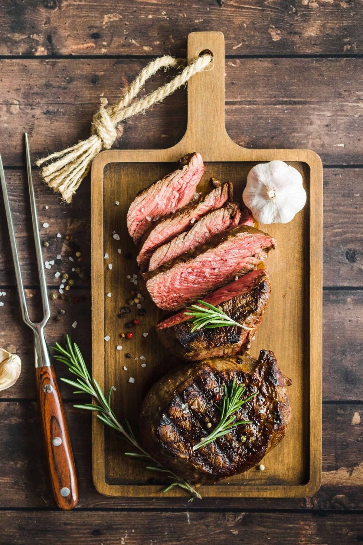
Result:
[[[13,221],[18,240],[24,283],[32,286],[38,282],[30,219],[28,214],[26,173],[20,169],[7,170],[9,198],[13,210]],[[323,198],[323,285],[324,286],[363,286],[363,191],[362,169],[327,168],[324,170]],[[85,180],[73,197],[72,205],[61,205],[59,197],[47,189],[38,171],[33,172],[33,181],[38,204],[40,226],[49,223],[48,228],[40,228],[41,240],[49,243],[42,247],[44,261],[62,255],[60,272],[70,272],[72,263],[68,261],[72,253],[65,236],[79,246],[82,251],[86,275],[90,277],[90,195],[89,180]],[[48,206],[48,209],[45,207]],[[0,209],[2,196],[0,195]],[[24,218],[27,217],[27,220]],[[349,220],[347,220],[349,218]],[[13,261],[8,247],[5,217],[0,215],[0,285],[15,285]],[[61,238],[57,237],[60,233]],[[73,252],[74,253],[74,252]],[[73,255],[74,257],[74,255]],[[56,265],[46,269],[46,279],[50,286],[56,282]],[[89,286],[73,275],[76,286]],[[328,337],[329,338],[329,337]],[[329,340],[330,342],[330,340]]]

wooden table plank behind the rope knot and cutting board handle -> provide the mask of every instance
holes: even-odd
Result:
[[[146,63],[146,59],[1,60],[4,164],[22,164],[24,130],[31,135],[34,160],[46,150],[58,151],[87,138],[100,94],[114,102],[120,87]],[[226,59],[227,132],[248,148],[310,148],[325,164],[361,164],[362,64],[362,58]],[[147,91],[161,85],[165,74],[152,79]],[[123,123],[115,147],[173,146],[186,130],[186,113],[186,91],[179,90],[146,116]],[[14,126],[19,130],[15,132]]]

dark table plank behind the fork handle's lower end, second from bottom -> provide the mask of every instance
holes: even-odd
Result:
[[[90,414],[65,403],[78,476],[77,508],[361,510],[363,507],[362,405],[323,405],[322,487],[312,498],[107,498],[91,479]],[[359,416],[358,416],[359,415]],[[358,422],[359,417],[361,419]],[[38,412],[33,402],[0,403],[0,507],[53,507],[42,463]],[[126,444],[120,440],[120,449]],[[150,474],[151,477],[155,476]],[[58,511],[58,515],[60,512]],[[132,515],[133,516],[133,515]],[[58,541],[57,541],[58,542]]]

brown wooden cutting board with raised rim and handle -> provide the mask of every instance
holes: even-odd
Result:
[[[162,150],[109,150],[93,162],[93,376],[104,390],[115,386],[113,406],[116,415],[119,419],[126,417],[137,429],[140,403],[147,389],[173,360],[153,330],[161,311],[150,300],[145,298],[143,302],[146,316],[140,318],[139,326],[128,328],[125,325],[130,318],[138,318],[136,305],[125,319],[117,317],[134,289],[127,275],[138,274],[137,252],[126,228],[127,209],[137,192],[174,170],[175,161],[181,156],[199,152],[206,168],[198,190],[210,190],[212,176],[221,181],[232,181],[235,198],[241,202],[247,174],[254,165],[273,159],[286,161],[302,173],[307,203],[286,225],[259,226],[278,240],[278,249],[269,253],[266,262],[272,296],[251,353],[257,355],[260,349],[273,350],[282,372],[292,379],[288,392],[292,420],[285,439],[264,458],[264,471],[251,469],[199,490],[202,496],[309,496],[316,492],[321,480],[322,163],[310,150],[246,149],[233,142],[224,125],[223,34],[189,34],[188,61],[205,50],[212,52],[214,66],[188,83],[188,127],[182,140],[174,147]],[[262,122],[256,118],[256,123]],[[113,238],[113,232],[119,234],[119,241]],[[104,259],[106,252],[108,259]],[[113,265],[112,270],[109,263]],[[108,293],[111,296],[107,296]],[[134,334],[132,340],[120,337],[121,332],[130,330]],[[108,342],[104,341],[107,335],[110,337]],[[118,345],[122,350],[116,349]],[[130,359],[125,357],[127,353],[131,354]],[[140,360],[140,356],[145,360]],[[145,367],[141,367],[143,362]],[[128,381],[130,377],[134,378],[134,383]],[[161,495],[161,474],[152,473],[143,464],[126,457],[124,451],[129,449],[124,441],[94,418],[93,478],[96,489],[112,496]],[[183,495],[183,490],[175,487],[168,495]]]

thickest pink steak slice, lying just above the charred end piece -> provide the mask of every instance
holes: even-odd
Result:
[[[159,308],[179,310],[256,269],[276,244],[259,229],[239,225],[142,276]]]

